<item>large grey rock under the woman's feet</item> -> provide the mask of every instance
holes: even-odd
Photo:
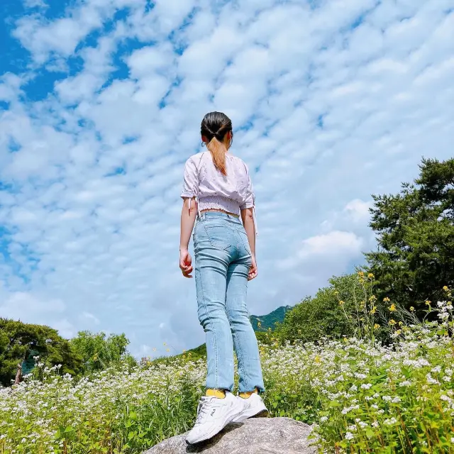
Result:
[[[143,454],[313,454],[311,428],[289,418],[253,418],[231,423],[211,440],[187,445],[184,435],[169,438]]]

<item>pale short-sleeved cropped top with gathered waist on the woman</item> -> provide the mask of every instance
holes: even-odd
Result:
[[[221,209],[238,215],[242,209],[253,208],[257,233],[255,195],[248,166],[239,157],[226,153],[226,172],[227,175],[223,175],[214,167],[209,151],[192,155],[184,166],[182,198],[195,197],[199,212]]]

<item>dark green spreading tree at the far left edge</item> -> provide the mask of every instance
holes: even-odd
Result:
[[[55,329],[0,319],[0,383],[11,385],[18,364],[26,365],[24,372],[30,372],[33,355],[39,355],[40,362],[48,367],[61,364],[62,373],[75,375],[81,368],[81,358]]]

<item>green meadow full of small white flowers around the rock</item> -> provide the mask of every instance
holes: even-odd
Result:
[[[314,423],[321,452],[454,453],[454,343],[443,323],[404,327],[387,347],[262,345],[266,403],[273,416]],[[77,384],[57,367],[42,372],[1,391],[1,454],[140,453],[191,426],[206,370],[186,356]]]

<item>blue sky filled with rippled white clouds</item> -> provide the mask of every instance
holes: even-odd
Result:
[[[0,315],[199,345],[178,269],[182,171],[208,111],[253,170],[250,312],[375,248],[371,195],[452,157],[454,0],[5,0]]]

